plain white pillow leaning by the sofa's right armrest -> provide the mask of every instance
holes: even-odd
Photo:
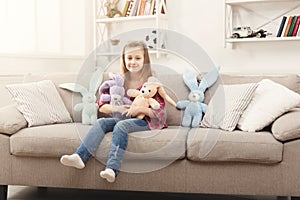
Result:
[[[242,114],[238,128],[243,131],[259,131],[277,117],[300,105],[300,95],[269,79],[258,83],[249,106]]]

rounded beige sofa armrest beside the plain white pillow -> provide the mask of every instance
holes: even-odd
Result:
[[[271,127],[273,136],[282,142],[300,138],[300,108],[291,111],[277,118]]]

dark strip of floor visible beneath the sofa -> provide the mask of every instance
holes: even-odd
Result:
[[[121,192],[121,191],[98,191],[98,190],[76,190],[36,187],[9,186],[9,200],[275,200],[276,197],[267,196],[229,196],[229,195],[204,195],[204,194],[174,194],[174,193],[149,193],[149,192]]]

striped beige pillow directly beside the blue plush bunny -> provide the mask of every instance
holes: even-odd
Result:
[[[201,126],[233,131],[256,87],[256,83],[219,85],[208,104]]]

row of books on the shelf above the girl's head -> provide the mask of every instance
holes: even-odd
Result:
[[[156,14],[156,6],[156,0],[126,0],[122,16],[154,15]]]

